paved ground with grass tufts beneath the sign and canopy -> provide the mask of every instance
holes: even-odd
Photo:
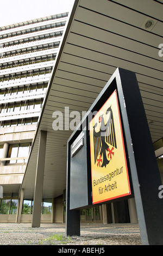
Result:
[[[67,237],[65,224],[0,223],[0,245],[141,245],[137,224],[81,224],[80,236]]]

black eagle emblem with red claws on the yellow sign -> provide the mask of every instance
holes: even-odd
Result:
[[[108,121],[106,121],[106,124],[104,122],[104,114],[106,114],[106,120],[109,117]],[[97,162],[97,166],[99,167],[106,167],[106,165],[110,162],[112,155],[114,155],[114,148],[117,148],[114,118],[111,106],[106,110],[106,113],[104,114],[99,117],[98,122],[101,123],[101,126],[98,132],[95,131],[97,123],[93,126],[95,164]],[[108,157],[110,156],[110,160],[107,159],[106,154],[108,154]],[[103,161],[101,157],[103,157]]]

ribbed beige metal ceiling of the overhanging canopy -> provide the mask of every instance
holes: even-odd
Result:
[[[54,131],[54,111],[86,111],[117,67],[136,73],[152,141],[163,135],[162,43],[163,2],[152,0],[79,0],[67,26],[22,188],[34,193],[40,130],[48,131],[43,197],[66,188],[66,143],[72,131]],[[76,8],[77,5],[77,8]],[[147,21],[152,27],[146,28]],[[135,106],[136,107],[136,106]],[[72,119],[70,119],[72,120]],[[135,127],[138,132],[139,128]]]

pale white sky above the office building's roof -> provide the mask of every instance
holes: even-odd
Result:
[[[0,27],[65,13],[73,4],[74,0],[0,0]]]

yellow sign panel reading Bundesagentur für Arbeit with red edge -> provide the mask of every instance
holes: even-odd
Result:
[[[90,121],[93,204],[131,194],[116,90]]]

